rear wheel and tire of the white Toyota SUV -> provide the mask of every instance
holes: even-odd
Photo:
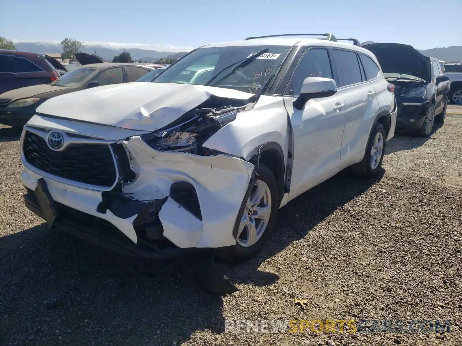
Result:
[[[350,172],[353,173],[353,175],[370,178],[380,171],[385,147],[387,145],[386,138],[383,125],[375,123],[372,128],[371,137],[366,146],[363,160],[350,166]],[[381,142],[381,144],[379,142]],[[374,148],[374,152],[372,152],[372,148]],[[374,156],[374,158],[372,156]]]

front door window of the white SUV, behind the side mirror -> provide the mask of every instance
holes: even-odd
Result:
[[[302,83],[308,77],[332,78],[332,68],[327,49],[309,49],[302,55],[287,85],[285,94],[300,95]]]

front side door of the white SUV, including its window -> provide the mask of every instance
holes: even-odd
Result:
[[[324,180],[340,164],[345,100],[334,94],[310,99],[302,110],[294,108],[307,77],[333,78],[327,48],[304,52],[284,92],[294,136],[290,199]]]

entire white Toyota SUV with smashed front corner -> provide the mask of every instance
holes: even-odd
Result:
[[[207,44],[152,83],[44,102],[21,136],[25,205],[127,255],[253,256],[293,198],[347,167],[376,174],[395,132],[374,54],[332,34],[279,36]],[[191,81],[201,66],[213,68]]]

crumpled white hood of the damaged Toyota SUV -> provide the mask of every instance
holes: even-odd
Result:
[[[156,131],[212,96],[248,100],[255,95],[205,85],[133,82],[57,96],[37,107],[37,113],[131,130]]]

